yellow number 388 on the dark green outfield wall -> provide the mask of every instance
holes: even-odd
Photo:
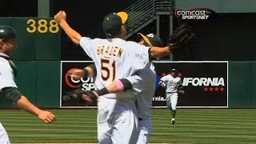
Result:
[[[38,30],[39,33],[46,33],[50,31],[50,33],[58,33],[59,27],[58,23],[52,19],[50,20],[49,25],[46,19],[40,19],[36,22],[34,19],[29,19],[26,21],[26,24],[29,25],[26,27],[26,31],[29,33],[34,33]],[[49,27],[48,27],[49,26]]]

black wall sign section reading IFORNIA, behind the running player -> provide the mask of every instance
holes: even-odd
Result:
[[[166,106],[165,89],[160,79],[178,70],[185,94],[178,94],[177,106],[227,106],[227,62],[157,62],[153,106]]]

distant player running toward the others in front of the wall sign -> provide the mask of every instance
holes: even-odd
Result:
[[[177,70],[172,69],[170,70],[170,74],[160,79],[159,84],[166,88],[166,106],[171,112],[171,124],[174,124],[178,93],[185,93],[182,87],[182,79],[178,77]]]

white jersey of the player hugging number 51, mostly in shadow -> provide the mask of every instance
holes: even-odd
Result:
[[[156,81],[154,65],[151,64],[150,68],[139,70],[138,75],[133,75],[126,79],[132,83],[134,90],[137,92],[136,106],[138,118],[150,117]]]

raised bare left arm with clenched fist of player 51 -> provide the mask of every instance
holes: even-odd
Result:
[[[72,42],[78,45],[82,36],[77,31],[73,30],[66,22],[65,11],[60,10],[56,15],[54,15],[54,19],[56,20],[56,22],[58,22],[59,26],[62,27],[65,33],[70,37]]]

